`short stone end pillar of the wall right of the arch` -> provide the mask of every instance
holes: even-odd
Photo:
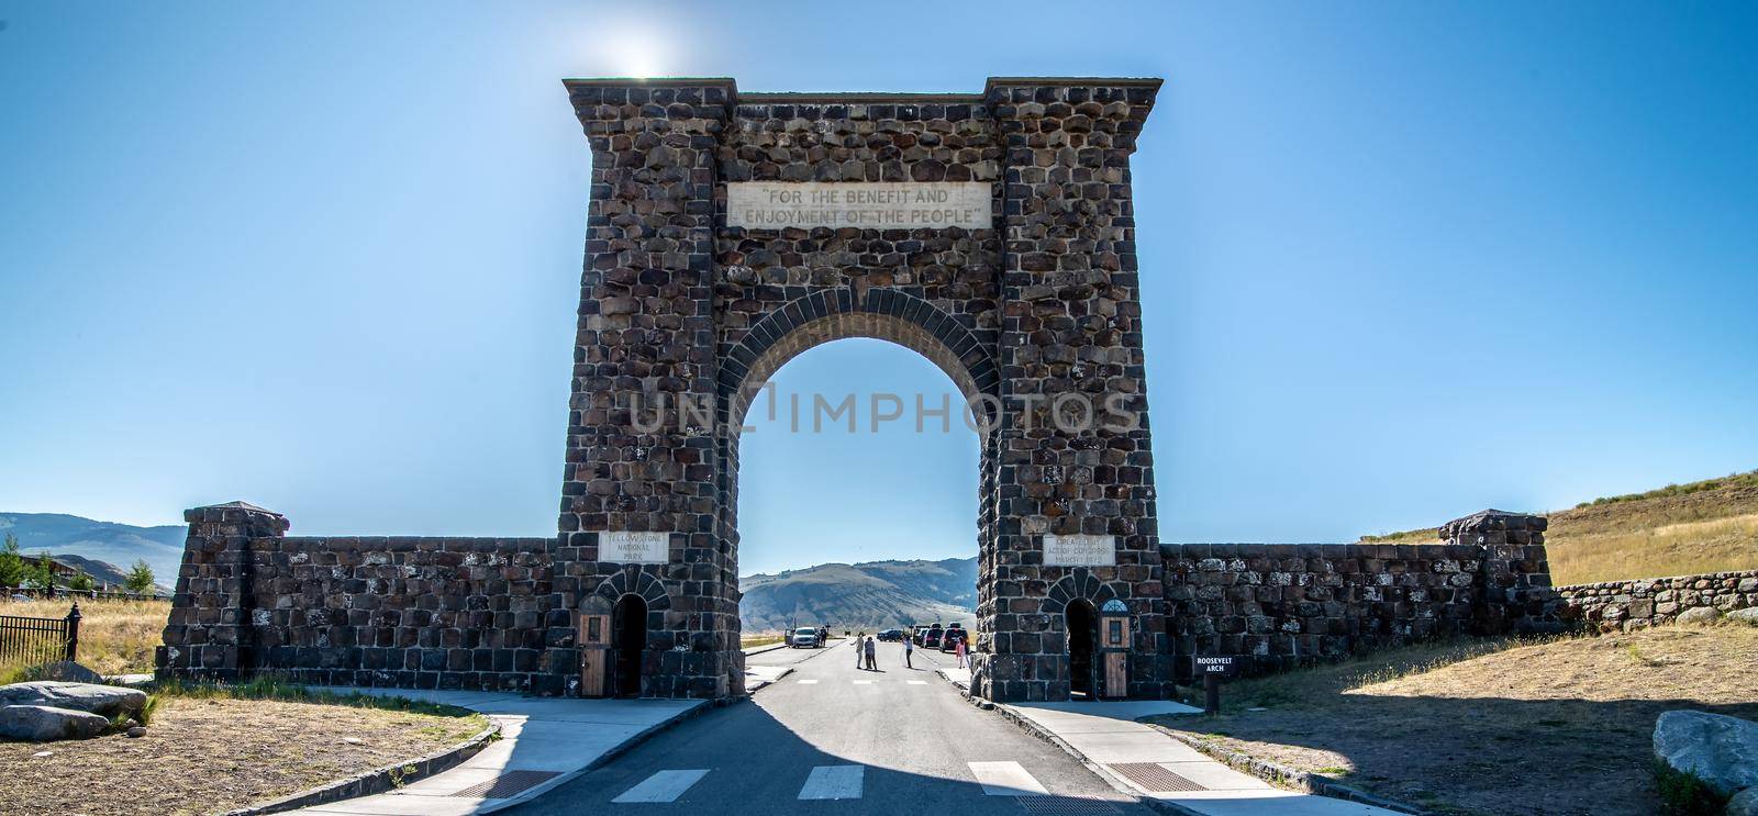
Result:
[[[1551,587],[1544,515],[1482,510],[1442,524],[1447,543],[1482,552],[1478,598],[1471,616],[1475,635],[1561,631],[1561,601]]]

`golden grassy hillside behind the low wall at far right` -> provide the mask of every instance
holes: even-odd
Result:
[[[1758,471],[1582,501],[1551,515],[1545,547],[1559,584],[1758,570]],[[1382,536],[1426,543],[1435,528]]]

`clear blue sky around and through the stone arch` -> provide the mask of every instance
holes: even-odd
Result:
[[[0,2],[0,510],[550,535],[564,76],[1162,76],[1160,522],[1352,540],[1758,466],[1751,4]],[[877,341],[782,389],[949,392]],[[744,572],[976,552],[967,433],[744,445]]]

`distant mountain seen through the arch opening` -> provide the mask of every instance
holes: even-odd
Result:
[[[835,630],[976,621],[977,559],[817,565],[738,579],[745,631],[826,624]]]

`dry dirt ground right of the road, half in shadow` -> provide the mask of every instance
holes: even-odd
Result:
[[[1435,812],[1635,816],[1658,809],[1660,712],[1758,719],[1754,677],[1753,626],[1461,644],[1238,682],[1222,716],[1160,725]]]

